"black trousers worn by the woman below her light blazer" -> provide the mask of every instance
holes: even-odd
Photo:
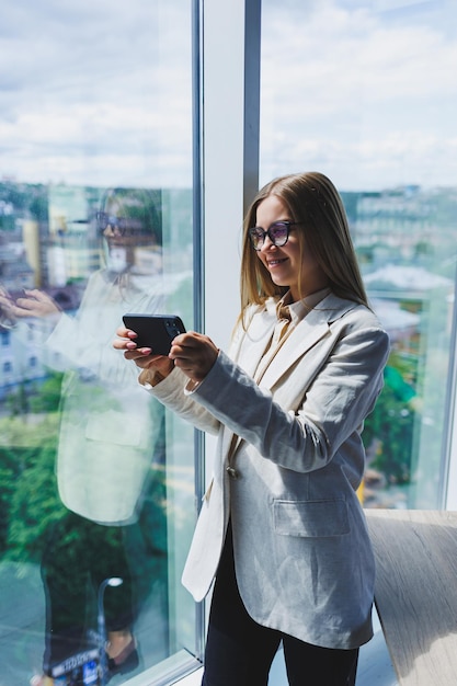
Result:
[[[311,645],[248,615],[235,576],[229,527],[209,613],[202,686],[266,686],[281,641],[290,686],[354,686],[358,649]]]

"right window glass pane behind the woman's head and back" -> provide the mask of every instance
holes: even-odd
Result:
[[[436,507],[454,348],[457,165],[452,1],[263,2],[261,181],[328,174],[389,331],[365,504]]]

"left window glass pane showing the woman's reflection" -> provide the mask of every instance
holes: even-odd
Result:
[[[5,684],[152,681],[196,650],[193,430],[112,347],[126,312],[193,327],[191,20],[184,0],[2,4]]]

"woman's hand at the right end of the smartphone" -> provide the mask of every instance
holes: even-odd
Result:
[[[188,331],[173,340],[169,357],[193,381],[202,381],[219,354],[213,341],[202,333]]]

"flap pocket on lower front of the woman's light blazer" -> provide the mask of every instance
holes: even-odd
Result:
[[[276,534],[320,538],[350,533],[347,504],[343,499],[319,501],[276,500],[273,503]]]

